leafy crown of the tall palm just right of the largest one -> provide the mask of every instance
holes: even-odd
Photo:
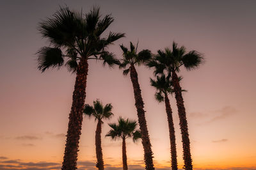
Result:
[[[134,47],[132,42],[130,42],[130,50],[128,50],[127,47],[124,47],[124,45],[120,45],[120,47],[123,51],[123,58],[121,59],[119,68],[125,68],[127,65],[141,65],[142,63],[146,63],[152,57],[152,54],[148,49],[141,50],[137,54],[138,43],[136,47]],[[130,67],[124,70],[124,75],[127,75],[129,71]]]

